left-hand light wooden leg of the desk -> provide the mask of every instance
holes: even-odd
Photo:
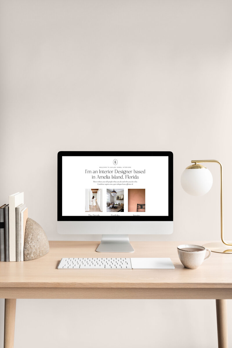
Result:
[[[4,348],[14,348],[16,299],[5,299]]]

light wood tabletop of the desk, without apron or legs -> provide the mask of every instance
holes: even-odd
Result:
[[[205,242],[189,242],[202,245]],[[40,259],[0,262],[0,288],[230,288],[232,254],[212,253],[198,269],[184,268],[177,246],[183,242],[131,242],[134,253],[97,253],[99,242],[50,241]],[[186,244],[186,242],[184,243]],[[174,270],[57,269],[62,258],[170,257]]]

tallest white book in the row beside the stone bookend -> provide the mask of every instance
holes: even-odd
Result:
[[[9,261],[16,261],[15,208],[23,203],[23,192],[17,192],[9,196]]]

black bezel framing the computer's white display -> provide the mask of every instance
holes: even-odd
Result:
[[[62,216],[63,156],[168,156],[168,216]],[[57,221],[173,221],[173,153],[171,151],[59,151],[57,154]]]

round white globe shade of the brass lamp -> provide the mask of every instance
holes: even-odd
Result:
[[[213,176],[209,169],[199,164],[187,167],[181,175],[181,186],[192,196],[203,196],[211,189]]]

